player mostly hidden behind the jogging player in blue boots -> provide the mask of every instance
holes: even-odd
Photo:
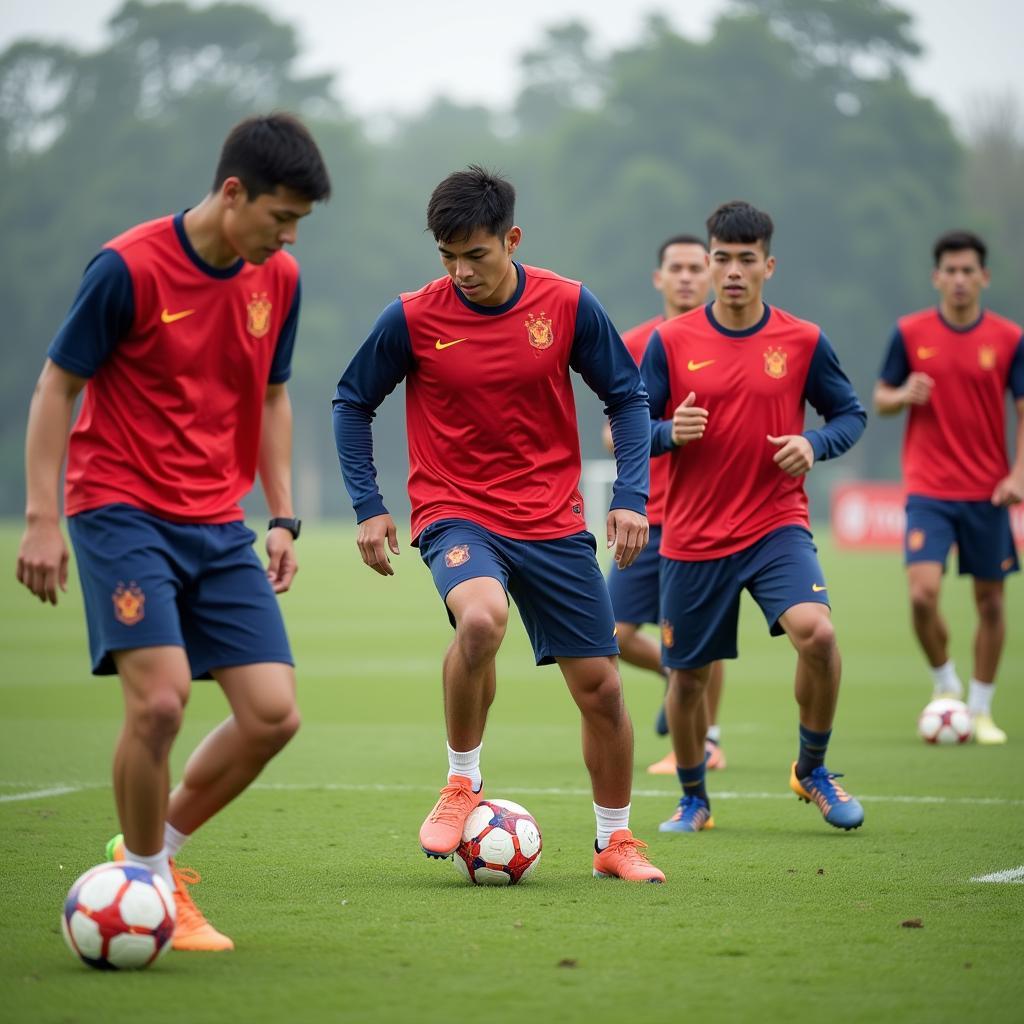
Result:
[[[657,250],[657,266],[651,283],[662,296],[664,314],[652,316],[623,334],[623,341],[630,355],[640,365],[647,341],[653,331],[667,319],[688,312],[708,301],[711,291],[711,271],[708,266],[708,247],[695,234],[675,234],[662,243]],[[611,431],[604,426],[604,445],[613,453]],[[647,502],[647,521],[650,523],[650,540],[633,565],[632,571],[620,572],[612,569],[608,573],[608,593],[615,614],[615,636],[618,651],[624,662],[647,669],[662,678],[660,647],[641,632],[644,623],[660,622],[657,611],[658,566],[662,542],[662,516],[665,505],[665,484],[669,464],[665,459],[650,461],[650,499]],[[725,753],[720,746],[721,732],[718,726],[718,706],[722,698],[723,667],[721,662],[712,666],[711,681],[708,684],[708,739],[706,742],[708,768],[725,767]],[[654,729],[659,736],[669,731],[665,715],[665,705],[658,712]],[[674,775],[676,756],[670,751],[664,758],[647,768],[652,775]]]

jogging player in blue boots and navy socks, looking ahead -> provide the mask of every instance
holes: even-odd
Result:
[[[712,663],[736,656],[744,588],[771,634],[784,633],[797,650],[800,748],[791,788],[831,825],[863,821],[860,804],[824,765],[840,654],[803,476],[849,449],[866,416],[821,329],[763,301],[775,269],[772,230],[749,203],[726,203],[709,217],[715,301],[662,325],[641,366],[652,451],[671,453],[662,645],[683,797],[663,831],[714,827],[705,690]],[[823,426],[804,429],[806,402]]]

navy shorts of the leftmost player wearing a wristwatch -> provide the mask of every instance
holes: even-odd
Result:
[[[194,679],[211,669],[294,665],[278,598],[244,522],[169,522],[130,505],[68,520],[92,672],[114,675],[112,651],[184,647]]]

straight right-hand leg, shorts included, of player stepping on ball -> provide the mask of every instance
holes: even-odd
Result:
[[[554,541],[514,542],[509,593],[537,664],[558,664],[580,709],[597,825],[594,874],[664,882],[629,827],[633,727],[618,675],[614,615],[596,552],[597,543],[586,530]]]

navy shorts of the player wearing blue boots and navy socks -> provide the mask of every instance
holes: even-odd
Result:
[[[772,636],[795,604],[828,604],[814,539],[803,526],[780,526],[749,548],[703,562],[663,559],[662,664],[699,669],[736,657],[739,596],[761,605]]]

